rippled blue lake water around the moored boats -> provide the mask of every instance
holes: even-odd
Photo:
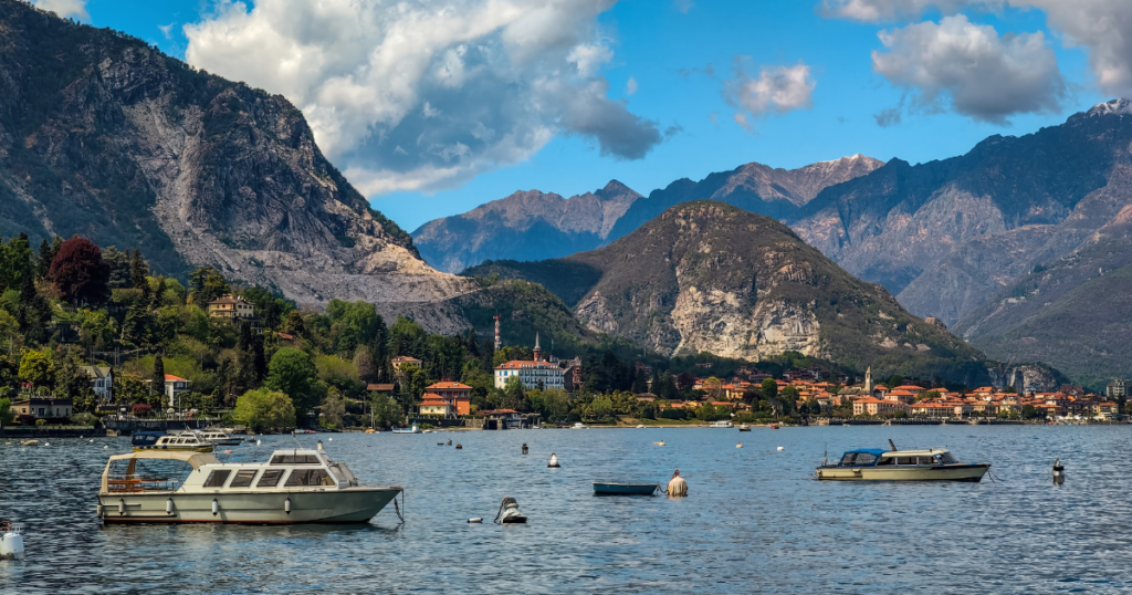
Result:
[[[98,478],[128,437],[0,443],[0,517],[25,524],[27,547],[24,561],[0,562],[0,593],[1126,592],[1130,436],[1127,426],[321,434],[363,484],[405,487],[404,525],[391,507],[359,527],[104,527]],[[437,445],[448,439],[463,450]],[[832,460],[887,439],[992,462],[998,482],[813,478],[826,449]],[[265,436],[232,457],[291,444]],[[560,469],[547,468],[551,452]],[[1049,481],[1055,457],[1062,486]],[[686,499],[593,496],[593,481],[663,484],[675,468]],[[505,495],[529,525],[491,524]]]

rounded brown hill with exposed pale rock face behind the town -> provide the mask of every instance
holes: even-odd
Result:
[[[906,312],[784,224],[715,201],[684,203],[609,246],[465,274],[554,279],[590,329],[661,354],[758,359],[783,350],[881,375],[985,382],[983,355]]]

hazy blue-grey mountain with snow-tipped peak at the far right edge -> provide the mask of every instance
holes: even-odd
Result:
[[[1114,100],[1035,134],[992,136],[962,156],[893,160],[822,192],[791,227],[912,313],[954,324],[1124,216],[1130,114]]]

